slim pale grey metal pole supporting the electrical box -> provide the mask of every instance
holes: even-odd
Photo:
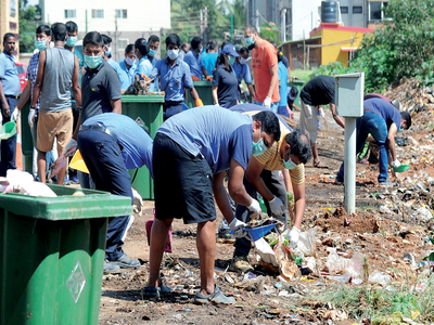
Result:
[[[345,117],[345,210],[356,211],[356,117]]]

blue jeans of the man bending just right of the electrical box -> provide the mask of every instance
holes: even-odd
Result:
[[[371,133],[380,148],[379,182],[386,182],[388,162],[387,125],[383,117],[371,112],[365,113],[362,117],[357,118],[356,154],[361,153],[363,150],[369,133]],[[341,165],[337,179],[344,180],[344,162]]]

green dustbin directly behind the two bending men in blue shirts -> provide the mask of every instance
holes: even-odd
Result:
[[[163,95],[123,95],[122,105],[123,114],[137,119],[140,117],[152,139],[155,138],[156,131],[163,125]],[[148,170],[143,166],[139,170],[129,170],[131,176],[131,186],[139,192],[143,199],[154,199],[154,181]]]

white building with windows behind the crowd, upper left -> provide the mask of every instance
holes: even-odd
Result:
[[[170,0],[40,0],[39,5],[42,22],[75,22],[79,39],[92,30],[108,35],[113,39],[112,52],[116,61],[124,57],[125,48],[138,38],[148,39],[151,34],[161,37],[170,28]]]

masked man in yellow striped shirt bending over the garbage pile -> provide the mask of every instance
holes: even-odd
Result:
[[[231,110],[247,115],[257,114],[257,105],[242,104]],[[265,107],[263,109],[266,109]],[[285,120],[279,117],[281,136],[271,148],[253,157],[247,166],[244,186],[247,193],[256,198],[257,193],[264,197],[268,216],[283,222],[284,230],[288,227],[289,210],[292,221],[290,232],[291,244],[296,246],[298,234],[305,212],[305,168],[304,165],[310,159],[311,151],[307,133],[302,129],[292,130]],[[282,171],[284,179],[280,177]],[[294,196],[294,212],[288,208],[288,196]],[[237,206],[235,217],[242,222],[251,220],[251,212],[243,206]],[[237,238],[235,250],[229,269],[233,272],[244,273],[252,271],[248,263],[248,252],[252,244],[246,238]]]

